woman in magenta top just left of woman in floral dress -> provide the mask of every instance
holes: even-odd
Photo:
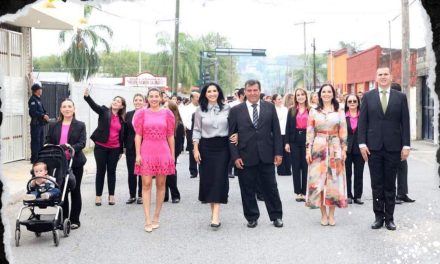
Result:
[[[292,157],[293,188],[297,202],[305,202],[307,191],[306,131],[309,101],[306,90],[297,88],[294,104],[289,109],[286,124],[285,150]]]

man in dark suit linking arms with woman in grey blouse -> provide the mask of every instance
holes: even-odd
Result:
[[[243,169],[238,177],[247,226],[258,224],[260,211],[255,197],[257,181],[275,227],[283,226],[283,210],[275,179],[275,165],[281,164],[282,137],[275,106],[260,100],[261,85],[257,80],[245,84],[246,102],[229,113],[229,135],[238,133],[238,145],[231,143],[235,166]]]

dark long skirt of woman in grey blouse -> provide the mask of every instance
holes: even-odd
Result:
[[[202,203],[227,203],[229,192],[228,137],[202,138],[199,144],[199,201]]]

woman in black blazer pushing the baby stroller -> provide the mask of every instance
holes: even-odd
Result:
[[[80,227],[81,222],[79,216],[81,214],[81,180],[84,172],[84,164],[87,159],[82,152],[86,146],[86,126],[83,122],[76,120],[75,118],[75,105],[70,99],[65,99],[61,102],[60,116],[57,122],[49,124],[49,130],[46,136],[45,144],[53,145],[68,145],[75,150],[75,156],[73,157],[71,168],[75,175],[76,186],[75,189],[70,190],[71,196],[71,209],[70,209],[70,221],[72,223],[71,228],[77,229]],[[66,158],[70,160],[70,153],[67,151]],[[63,219],[69,217],[69,193],[66,192],[63,203]]]

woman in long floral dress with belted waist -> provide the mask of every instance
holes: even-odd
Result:
[[[310,109],[306,160],[309,164],[306,206],[321,209],[321,225],[334,226],[335,208],[347,207],[345,159],[347,125],[333,86],[318,92],[318,106]],[[328,213],[327,213],[328,207]]]

